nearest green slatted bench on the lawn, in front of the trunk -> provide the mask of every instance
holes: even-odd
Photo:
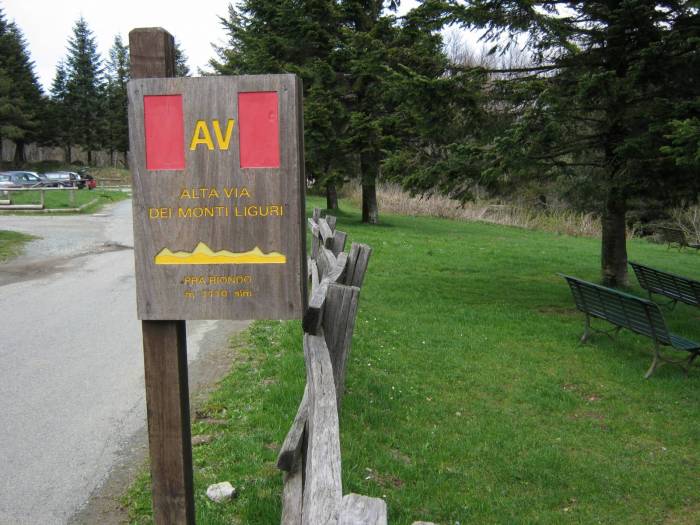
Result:
[[[664,363],[681,365],[685,373],[688,373],[690,366],[700,353],[700,344],[669,332],[657,304],[568,275],[562,275],[562,277],[569,283],[576,308],[586,314],[586,328],[581,337],[582,343],[588,339],[591,331],[602,332],[591,327],[591,317],[596,317],[615,325],[612,330],[615,334],[626,328],[654,341],[654,360],[644,375],[645,378],[651,377],[654,371]],[[610,335],[609,332],[602,333]],[[676,350],[689,352],[690,356],[682,360],[668,359],[661,354],[661,346],[670,346]]]

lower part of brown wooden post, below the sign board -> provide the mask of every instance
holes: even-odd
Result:
[[[143,321],[153,519],[194,524],[184,321]]]

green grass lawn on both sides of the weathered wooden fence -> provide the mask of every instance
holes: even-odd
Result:
[[[374,249],[340,420],[344,493],[384,497],[391,524],[700,523],[700,366],[644,380],[648,339],[578,344],[583,316],[556,273],[598,280],[599,240],[386,215],[370,227],[354,209],[338,228]],[[629,255],[700,278],[695,251],[635,240]],[[665,316],[700,340],[699,310]],[[232,344],[232,373],[193,419],[216,435],[194,450],[197,522],[279,523],[301,329],[260,322]],[[225,480],[238,499],[209,502]],[[126,502],[150,521],[147,475]]]

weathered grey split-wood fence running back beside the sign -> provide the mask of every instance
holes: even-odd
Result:
[[[282,525],[386,525],[384,500],[343,496],[339,414],[360,288],[371,249],[352,244],[336,219],[309,219],[311,297],[304,315],[306,388],[277,466],[284,471]]]

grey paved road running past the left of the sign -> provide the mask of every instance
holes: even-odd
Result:
[[[42,236],[0,265],[0,524],[67,523],[145,425],[131,203],[0,229]],[[240,326],[188,323],[189,360]]]

